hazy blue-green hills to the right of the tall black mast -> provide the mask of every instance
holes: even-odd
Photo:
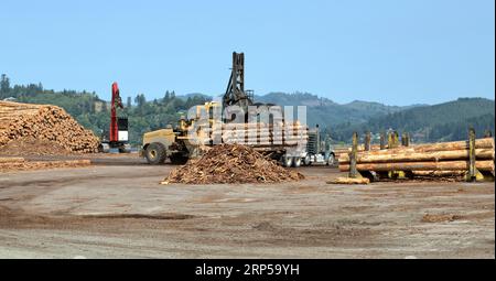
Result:
[[[202,95],[202,94],[191,94]],[[202,95],[205,97],[205,95]],[[320,125],[336,141],[349,141],[354,131],[365,133],[395,129],[408,131],[417,141],[462,140],[473,126],[478,136],[494,131],[495,101],[486,98],[459,98],[439,105],[387,106],[354,100],[337,104],[310,93],[269,93],[255,96],[256,102],[306,106],[306,122]]]

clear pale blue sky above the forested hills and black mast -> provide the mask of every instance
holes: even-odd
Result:
[[[224,93],[245,52],[256,94],[436,104],[495,94],[494,0],[0,2],[0,73],[15,84]]]

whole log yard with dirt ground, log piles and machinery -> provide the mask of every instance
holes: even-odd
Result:
[[[354,133],[320,154],[319,128],[282,109],[268,122],[213,118],[255,105],[242,66],[234,53],[222,101],[145,132],[134,151],[117,83],[108,138],[61,107],[0,101],[0,256],[494,257],[490,136],[414,143],[390,131],[374,144]]]

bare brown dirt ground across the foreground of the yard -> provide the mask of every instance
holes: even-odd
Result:
[[[495,258],[494,183],[160,185],[172,165],[0,174],[0,258]]]

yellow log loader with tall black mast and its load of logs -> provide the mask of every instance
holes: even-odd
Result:
[[[268,123],[249,123],[248,110],[254,108],[254,106],[259,108],[260,106],[271,107],[274,105],[254,102],[252,91],[245,90],[245,55],[242,53],[233,53],[231,74],[222,101],[211,101],[196,106],[196,117],[190,119],[182,117],[174,129],[161,129],[144,133],[140,154],[150,164],[162,164],[168,158],[173,164],[183,164],[190,158],[201,155],[202,148],[215,145],[214,139],[217,138],[216,140],[219,140],[218,138],[220,138],[220,143],[242,143],[249,145],[256,151],[280,161],[283,166],[300,166],[306,155],[306,127],[299,125],[298,121],[285,123],[280,107],[274,107],[274,110],[279,110],[279,112],[271,115],[269,117],[271,120]],[[227,111],[227,114],[223,111],[223,109],[233,107],[242,109],[241,112],[245,112],[246,116],[233,120],[233,114],[237,116],[236,111]],[[214,112],[219,111],[222,112],[222,118],[214,119]],[[207,116],[207,121],[205,121],[205,118],[201,118],[201,116]],[[198,138],[197,136],[191,136],[191,129],[196,128],[194,126],[198,126],[200,122],[206,123],[207,129],[203,133],[204,138],[198,144]],[[245,130],[246,132],[249,131],[248,133],[266,131],[265,134],[256,136],[255,142],[250,142],[245,133],[241,137],[235,133],[230,139],[226,139],[225,131],[223,130],[225,128],[229,130],[229,128],[238,125],[246,128]],[[287,131],[282,133],[279,133],[279,131],[276,132],[274,127],[277,126],[291,128],[291,133]],[[217,128],[217,131],[214,128]],[[298,130],[294,128],[298,128]],[[215,134],[216,132],[219,134]],[[193,140],[193,138],[195,139]]]

